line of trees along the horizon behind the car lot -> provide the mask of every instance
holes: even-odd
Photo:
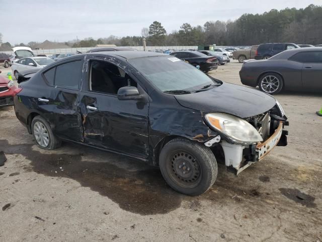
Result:
[[[0,43],[2,43],[0,33]],[[244,14],[235,21],[208,21],[203,26],[183,23],[179,30],[167,33],[160,22],[154,21],[141,30],[140,36],[110,35],[106,38],[86,38],[64,42],[70,47],[91,47],[96,44],[117,46],[143,45],[143,38],[150,46],[157,45],[254,45],[267,42],[292,42],[322,44],[322,6],[309,5],[305,9],[276,10],[263,14]],[[16,46],[36,45],[37,42]],[[10,50],[9,42],[1,44],[1,50]],[[9,48],[9,49],[8,49]]]

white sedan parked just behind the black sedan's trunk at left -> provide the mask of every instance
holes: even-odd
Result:
[[[20,72],[26,71],[28,69],[43,68],[53,62],[54,60],[49,57],[37,56],[37,57],[22,58],[22,59],[19,59],[18,62],[15,62],[11,66],[11,69],[15,75],[16,80],[18,80]]]

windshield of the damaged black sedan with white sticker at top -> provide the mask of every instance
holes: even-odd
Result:
[[[133,58],[128,62],[163,92],[187,94],[221,85],[221,82],[177,57]]]

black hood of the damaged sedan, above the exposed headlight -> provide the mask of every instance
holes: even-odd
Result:
[[[271,109],[276,100],[261,91],[223,83],[210,90],[175,95],[180,105],[203,112],[225,112],[241,118],[251,117]]]

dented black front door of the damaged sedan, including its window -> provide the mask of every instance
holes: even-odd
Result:
[[[146,159],[149,102],[145,90],[117,63],[90,59],[88,65],[87,84],[80,102],[84,142]],[[118,89],[124,86],[137,87],[142,98],[119,100]]]

